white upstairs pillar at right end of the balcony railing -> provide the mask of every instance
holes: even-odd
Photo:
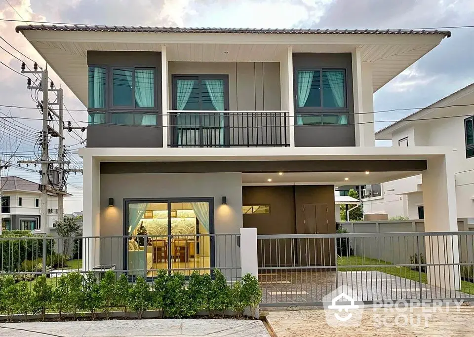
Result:
[[[293,96],[293,47],[289,46],[280,61],[281,110],[288,111],[287,125],[290,147],[295,147],[295,108]]]

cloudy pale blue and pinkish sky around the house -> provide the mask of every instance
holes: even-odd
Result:
[[[11,4],[8,4],[8,2]],[[14,9],[13,9],[13,8]],[[15,11],[16,10],[16,11]],[[329,29],[416,29],[474,25],[473,0],[0,0],[0,18],[100,25],[179,26],[179,27],[250,27],[250,28],[329,28]],[[0,22],[0,36],[22,53],[44,64],[40,55],[15,26],[23,23]],[[451,29],[430,53],[396,76],[374,94],[374,111],[423,108],[474,82],[474,29]],[[0,40],[0,46],[25,59]],[[15,70],[20,61],[0,49],[0,61]],[[25,59],[25,61],[28,61]],[[32,62],[28,63],[31,67]],[[35,107],[26,88],[26,78],[0,64],[0,105]],[[65,90],[69,110],[84,106],[51,72],[56,87]],[[0,107],[0,116],[40,118],[34,109],[11,110]],[[398,120],[415,110],[376,113],[375,129]],[[67,120],[86,121],[85,112],[66,113]],[[14,125],[12,124],[14,121]],[[20,124],[22,123],[22,124]],[[83,124],[83,123],[81,123]],[[34,132],[40,121],[0,119],[0,156],[11,153],[33,159]],[[79,136],[86,137],[86,133]],[[78,135],[66,135],[71,156],[83,145]],[[74,137],[74,138],[73,138]],[[55,143],[57,144],[57,143]],[[390,146],[378,142],[379,146]],[[52,146],[54,148],[54,145]],[[53,150],[54,153],[54,150]],[[15,159],[15,158],[13,158]],[[17,158],[16,159],[21,159]],[[15,160],[14,160],[15,161]],[[27,169],[32,169],[30,166]],[[34,168],[33,168],[34,169]],[[5,173],[2,172],[4,175]],[[10,168],[18,175],[38,182],[39,174]],[[65,211],[82,210],[82,176],[68,179]]]

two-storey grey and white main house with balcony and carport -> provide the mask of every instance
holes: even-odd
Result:
[[[177,239],[151,238],[148,251],[143,238],[102,240],[114,235],[333,233],[335,187],[420,173],[436,182],[424,190],[426,230],[457,228],[452,150],[377,148],[372,113],[373,93],[449,32],[16,30],[88,108],[83,233],[101,236],[89,265],[181,262]],[[213,244],[186,249],[212,267]]]

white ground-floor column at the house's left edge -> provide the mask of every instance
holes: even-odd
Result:
[[[83,161],[82,195],[82,269],[84,271],[99,265],[100,235],[100,162],[90,155]]]

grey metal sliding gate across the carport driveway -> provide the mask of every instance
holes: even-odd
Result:
[[[474,300],[474,231],[258,235],[262,306]]]

